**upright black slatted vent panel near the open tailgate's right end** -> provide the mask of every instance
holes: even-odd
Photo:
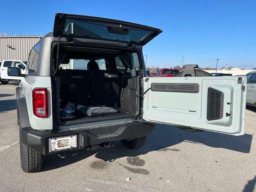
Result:
[[[223,117],[223,92],[214,88],[208,88],[207,96],[207,120],[218,120]]]

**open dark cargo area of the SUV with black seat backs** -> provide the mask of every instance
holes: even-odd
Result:
[[[135,66],[132,76],[132,63],[130,66],[123,64],[131,60],[120,59],[122,56],[114,52],[76,49],[83,53],[81,58],[81,54],[78,57],[77,52],[74,54],[68,50],[70,48],[61,49],[64,53],[60,54],[63,56],[55,78],[56,109],[60,122],[97,122],[137,115],[136,95],[140,79]],[[134,59],[132,54],[129,56]]]

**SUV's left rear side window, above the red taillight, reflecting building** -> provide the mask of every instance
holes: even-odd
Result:
[[[30,51],[30,58],[28,60],[28,74],[33,74],[37,72],[40,48],[41,42],[34,46],[34,48]]]

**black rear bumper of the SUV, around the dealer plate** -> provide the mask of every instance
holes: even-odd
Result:
[[[122,139],[134,139],[146,136],[152,132],[154,124],[144,122],[129,122],[122,125],[102,126],[90,129],[64,130],[64,131],[38,131],[31,128],[20,130],[20,140],[26,146],[41,152],[44,155],[54,154],[49,151],[49,139],[54,137],[77,135],[77,148],[83,149],[104,142]]]

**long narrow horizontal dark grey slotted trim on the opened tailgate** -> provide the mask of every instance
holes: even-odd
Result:
[[[198,83],[152,83],[151,91],[198,93]]]

